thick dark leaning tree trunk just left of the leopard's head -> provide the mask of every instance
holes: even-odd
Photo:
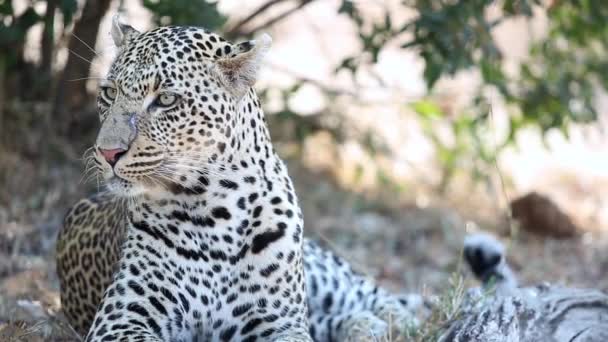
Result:
[[[84,111],[92,101],[86,89],[86,80],[74,81],[89,76],[91,63],[95,58],[99,24],[110,7],[111,0],[89,0],[82,9],[82,16],[74,25],[68,42],[69,57],[57,86],[53,108],[57,132],[67,137],[77,137],[94,127],[97,118],[90,111]],[[88,46],[87,46],[88,45]]]

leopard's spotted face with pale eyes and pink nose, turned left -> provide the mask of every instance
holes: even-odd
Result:
[[[117,194],[203,191],[205,175],[239,144],[237,106],[260,44],[194,27],[123,31],[98,94],[98,169]]]

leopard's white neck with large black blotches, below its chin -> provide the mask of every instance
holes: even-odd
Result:
[[[284,164],[272,156],[225,175],[207,175],[205,187],[196,191],[174,189],[131,201],[129,239],[173,249],[186,259],[232,265],[248,254],[297,253],[301,211]]]

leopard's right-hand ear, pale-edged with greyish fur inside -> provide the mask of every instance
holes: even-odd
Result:
[[[222,83],[237,99],[255,84],[262,60],[271,44],[272,38],[263,34],[258,39],[236,44],[234,53],[217,61]]]

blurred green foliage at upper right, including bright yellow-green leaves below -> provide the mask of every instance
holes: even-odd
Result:
[[[462,168],[475,179],[485,179],[523,127],[538,127],[543,134],[559,129],[567,136],[570,123],[597,119],[593,99],[600,88],[608,90],[608,6],[602,1],[404,0],[402,6],[417,16],[396,24],[387,9],[382,20],[366,25],[356,3],[343,0],[339,11],[356,23],[362,53],[344,59],[337,71],[356,73],[376,63],[388,42],[407,39],[401,48],[414,49],[425,62],[430,96],[410,106],[444,167],[441,189]],[[531,19],[535,11],[546,14],[548,34],[533,40],[519,72],[508,75],[493,30],[511,18]],[[433,86],[443,76],[471,69],[479,70],[482,79],[475,100],[467,112],[448,117],[432,101]],[[510,111],[504,141],[492,136],[491,107],[483,95],[489,88],[498,91]],[[437,124],[448,126],[452,141],[438,137]]]

